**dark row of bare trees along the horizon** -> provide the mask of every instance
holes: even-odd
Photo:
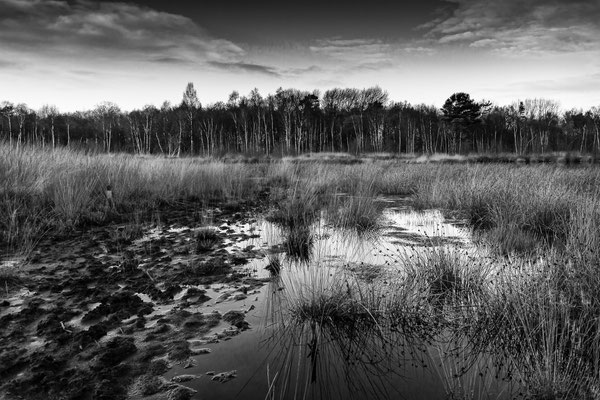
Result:
[[[441,109],[390,101],[380,87],[262,96],[233,92],[202,106],[192,83],[181,103],[122,111],[103,102],[61,113],[0,103],[0,140],[21,146],[69,146],[97,152],[169,156],[304,152],[544,153],[600,151],[600,107],[561,112],[557,102],[527,99],[508,106],[454,93]]]

